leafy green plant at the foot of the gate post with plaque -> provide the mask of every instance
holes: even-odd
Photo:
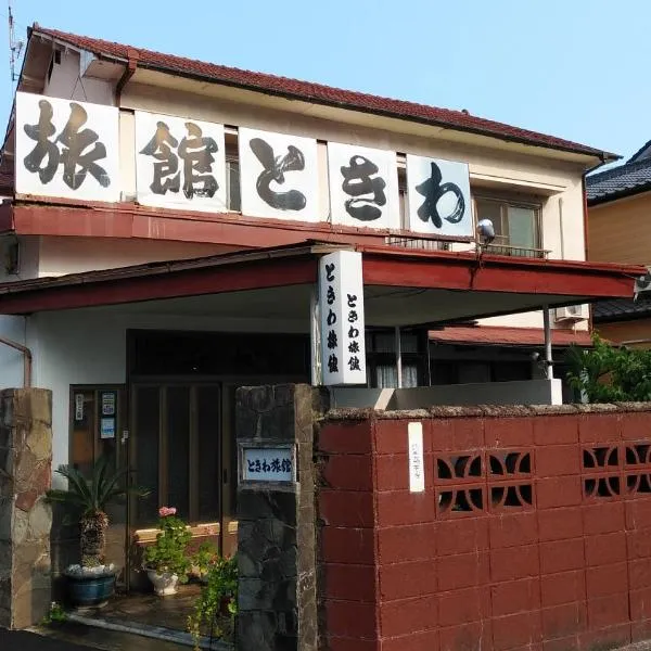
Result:
[[[202,628],[217,626],[216,636],[232,635],[238,614],[238,558],[217,557],[208,567],[207,582],[188,617],[188,631],[199,650]],[[219,617],[220,624],[217,623]],[[222,628],[222,626],[226,628]]]

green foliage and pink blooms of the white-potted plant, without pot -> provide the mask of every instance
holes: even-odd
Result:
[[[181,583],[186,583],[191,566],[187,552],[192,534],[186,523],[177,518],[175,508],[162,507],[158,514],[161,533],[156,541],[144,550],[145,566],[157,574],[176,574]]]

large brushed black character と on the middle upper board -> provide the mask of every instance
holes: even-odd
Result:
[[[285,181],[286,171],[305,169],[303,152],[293,145],[289,145],[288,153],[284,156],[275,156],[271,145],[261,138],[253,138],[250,140],[248,145],[265,168],[255,183],[259,197],[272,208],[279,210],[302,210],[307,203],[305,194],[298,192],[298,190],[275,192],[271,190],[271,183],[276,182],[282,186]]]

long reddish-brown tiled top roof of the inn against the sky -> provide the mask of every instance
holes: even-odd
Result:
[[[263,73],[253,73],[214,63],[205,63],[194,59],[163,54],[152,50],[144,50],[87,36],[77,36],[58,29],[47,29],[40,27],[38,24],[34,25],[31,34],[64,41],[73,47],[87,50],[97,55],[117,58],[124,61],[137,58],[138,66],[164,71],[171,74],[199,77],[219,84],[227,84],[308,102],[376,113],[403,119],[411,119],[462,131],[472,131],[500,138],[502,140],[564,150],[598,156],[600,158],[615,158],[613,154],[602,152],[601,150],[563,140],[561,138],[537,133],[527,129],[512,127],[498,122],[483,119],[463,111],[436,108],[435,106],[426,106],[424,104],[417,104],[403,100],[392,100],[362,92],[342,90],[321,84],[299,81],[297,79],[278,77]]]

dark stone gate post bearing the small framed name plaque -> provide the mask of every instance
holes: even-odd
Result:
[[[317,651],[314,420],[307,384],[237,394],[239,651]]]

